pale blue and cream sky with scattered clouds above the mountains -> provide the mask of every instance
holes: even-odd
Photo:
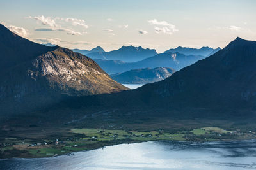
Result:
[[[0,22],[36,43],[67,48],[223,48],[237,36],[256,40],[256,1],[0,0]]]

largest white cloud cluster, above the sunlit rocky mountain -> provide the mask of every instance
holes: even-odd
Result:
[[[65,32],[67,32],[68,35],[82,35],[81,32],[61,27],[60,24],[56,24],[55,20],[65,20],[66,22],[72,22],[72,25],[81,25],[86,28],[88,27],[87,25],[84,24],[84,20],[78,20],[76,18],[66,18],[66,19],[55,18],[55,19],[53,19],[51,17],[44,17],[44,15],[41,15],[38,17],[29,16],[28,18],[33,18],[34,20],[40,22],[42,25],[49,26],[48,28],[35,29],[35,31],[65,31]]]

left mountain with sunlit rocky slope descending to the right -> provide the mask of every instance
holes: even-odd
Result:
[[[33,43],[0,24],[0,108],[46,106],[64,96],[127,90],[92,59],[60,46]],[[19,109],[15,110],[17,106]]]

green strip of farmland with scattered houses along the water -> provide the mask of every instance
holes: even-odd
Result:
[[[205,143],[216,141],[243,141],[256,139],[256,132],[227,131],[219,127],[204,127],[177,133],[159,131],[126,131],[114,129],[70,129],[72,136],[44,138],[29,141],[19,138],[2,138],[5,144],[0,148],[0,159],[57,157],[74,152],[95,150],[119,144],[148,141],[178,141]],[[7,141],[9,141],[7,143]]]

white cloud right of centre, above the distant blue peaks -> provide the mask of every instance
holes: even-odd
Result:
[[[159,27],[154,27],[157,34],[159,34],[160,32],[163,32],[164,34],[173,34],[173,32],[179,31],[179,29],[177,29],[175,25],[170,24],[166,21],[157,21],[156,19],[154,19],[148,20],[148,22],[153,25],[159,25]]]

